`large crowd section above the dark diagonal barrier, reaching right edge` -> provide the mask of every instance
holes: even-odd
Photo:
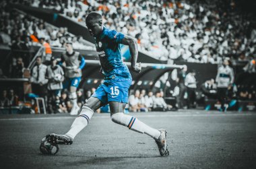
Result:
[[[34,0],[30,5],[57,9],[77,22],[99,11],[107,27],[137,38],[141,52],[165,61],[220,63],[222,57],[256,55],[255,20],[236,0]]]

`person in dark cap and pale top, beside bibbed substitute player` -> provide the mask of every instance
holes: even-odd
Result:
[[[48,111],[56,113],[59,108],[59,98],[63,89],[64,72],[61,66],[57,65],[57,58],[51,57],[51,65],[47,67],[46,78],[48,81]]]

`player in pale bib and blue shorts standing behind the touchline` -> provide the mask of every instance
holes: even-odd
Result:
[[[80,108],[77,105],[76,90],[82,77],[82,69],[86,65],[84,57],[73,50],[71,42],[65,44],[66,51],[61,55],[61,65],[65,67],[65,81],[63,88],[69,90],[69,99],[73,105],[70,114],[77,115]]]

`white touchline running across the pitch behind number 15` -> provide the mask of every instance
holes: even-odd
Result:
[[[184,116],[253,116],[255,113],[247,114],[135,114],[137,117],[184,117]],[[108,119],[109,116],[94,116],[94,119]],[[75,119],[75,116],[51,116],[51,117],[31,117],[31,118],[9,118],[0,121],[30,121],[30,120],[56,120],[56,119]]]

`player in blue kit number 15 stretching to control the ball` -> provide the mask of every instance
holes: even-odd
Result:
[[[108,30],[102,25],[102,15],[91,12],[86,18],[86,26],[90,35],[94,36],[96,50],[100,59],[104,82],[98,86],[96,92],[82,106],[82,110],[65,135],[54,133],[46,135],[46,139],[53,144],[71,144],[73,139],[86,127],[94,112],[109,104],[110,116],[114,123],[128,127],[138,133],[146,133],[152,137],[160,151],[161,156],[168,156],[166,143],[166,131],[153,129],[139,121],[134,116],[123,113],[128,102],[128,90],[131,86],[131,74],[127,65],[121,58],[119,44],[129,46],[131,53],[131,69],[136,73],[141,71],[141,64],[137,62],[137,42],[130,36],[126,36],[116,30]]]

